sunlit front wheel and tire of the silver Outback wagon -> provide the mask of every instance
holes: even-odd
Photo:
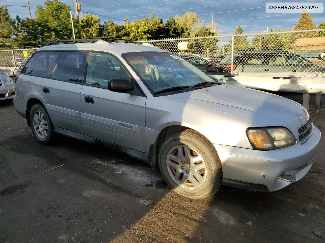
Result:
[[[159,168],[174,191],[191,199],[206,198],[222,184],[221,162],[214,147],[190,129],[175,133],[162,143]]]

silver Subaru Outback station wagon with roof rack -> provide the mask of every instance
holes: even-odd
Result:
[[[14,105],[40,143],[60,133],[124,152],[193,199],[221,184],[277,191],[312,167],[321,134],[302,105],[220,85],[148,43],[105,40],[49,42],[22,69]]]

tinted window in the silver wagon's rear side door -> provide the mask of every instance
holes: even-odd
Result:
[[[88,52],[64,52],[51,78],[84,83]]]

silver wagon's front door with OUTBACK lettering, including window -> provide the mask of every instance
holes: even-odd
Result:
[[[144,152],[146,97],[136,87],[129,93],[110,91],[110,78],[131,79],[131,76],[112,55],[91,53],[86,83],[81,90],[83,133]]]

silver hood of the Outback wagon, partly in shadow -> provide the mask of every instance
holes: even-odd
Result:
[[[278,95],[228,84],[165,96],[181,102],[218,110],[257,126],[284,126],[295,135],[309,118],[297,102]]]

